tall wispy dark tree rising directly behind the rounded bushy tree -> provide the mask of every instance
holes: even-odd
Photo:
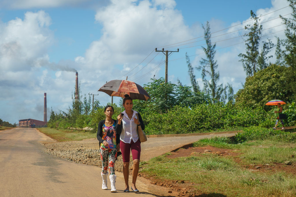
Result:
[[[263,42],[263,48],[261,53],[259,52],[259,45],[261,40],[262,25],[259,25],[260,19],[251,10],[251,19],[254,19],[253,25],[246,25],[245,30],[249,30],[249,33],[245,34],[246,40],[246,54],[240,53],[241,57],[239,61],[242,62],[243,68],[246,71],[247,76],[253,76],[255,72],[267,67],[266,61],[272,56],[267,54],[274,47],[274,44],[270,40]]]

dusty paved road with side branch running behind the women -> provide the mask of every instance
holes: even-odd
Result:
[[[201,138],[233,136],[220,133],[202,136],[155,137],[141,144],[141,159],[148,160]],[[178,135],[177,135],[178,136]],[[96,140],[96,139],[94,139]],[[91,143],[93,140],[88,140]],[[14,128],[0,131],[0,196],[110,196],[102,190],[101,168],[77,164],[42,152],[44,143],[54,142],[35,128]],[[116,173],[118,193],[112,196],[135,196],[123,193],[122,173]],[[109,184],[110,185],[110,184]],[[139,177],[141,196],[168,196],[168,189],[151,185]],[[170,195],[174,196],[174,192]]]

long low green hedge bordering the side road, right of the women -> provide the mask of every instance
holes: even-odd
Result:
[[[223,128],[258,126],[266,119],[262,107],[251,110],[231,103],[203,103],[191,108],[175,106],[165,114],[141,114],[148,134],[178,134],[206,132]]]

